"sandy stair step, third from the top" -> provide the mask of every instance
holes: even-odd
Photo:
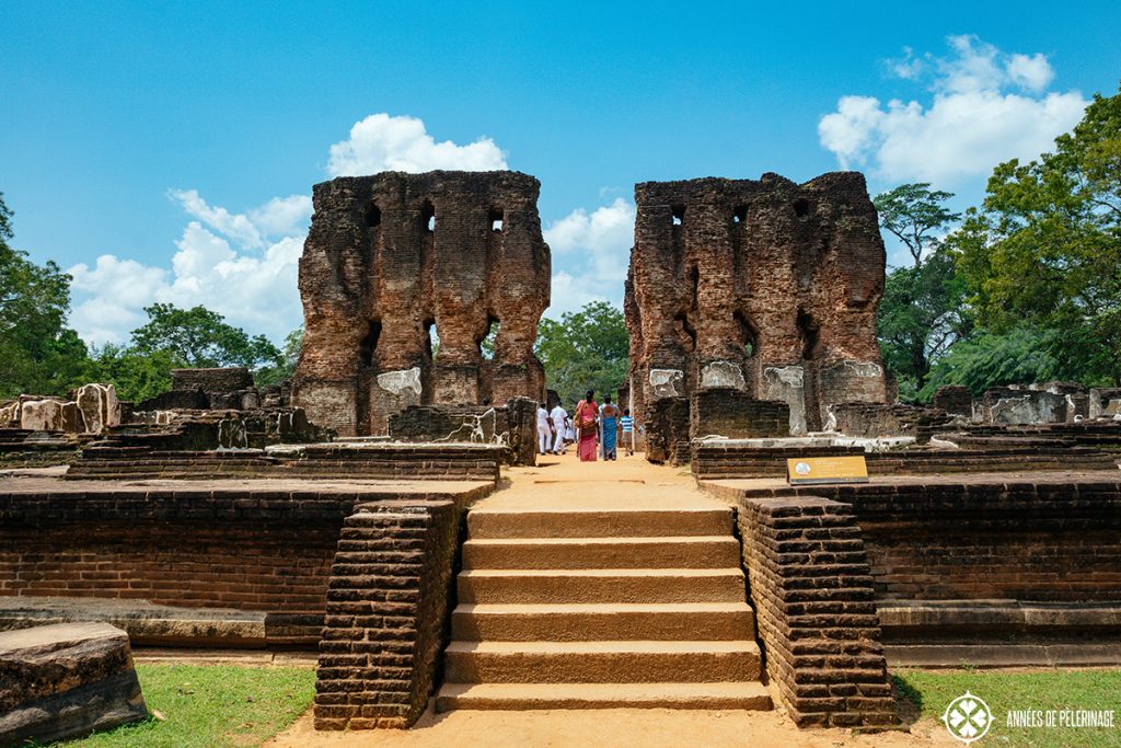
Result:
[[[466,570],[460,602],[744,602],[736,569]]]

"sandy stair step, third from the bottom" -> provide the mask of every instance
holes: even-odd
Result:
[[[461,640],[726,640],[754,635],[754,611],[745,602],[469,603],[452,611],[452,638]]]

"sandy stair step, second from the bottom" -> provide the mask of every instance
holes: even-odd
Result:
[[[732,641],[452,641],[448,683],[704,683],[759,680],[759,646]]]

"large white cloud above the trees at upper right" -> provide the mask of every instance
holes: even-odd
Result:
[[[1043,54],[1007,55],[972,36],[947,41],[948,57],[917,58],[907,49],[904,59],[889,63],[898,77],[928,79],[927,104],[846,95],[821,119],[821,142],[843,168],[953,186],[1001,161],[1048,150],[1090,103],[1077,91],[1045,93],[1055,73]]]

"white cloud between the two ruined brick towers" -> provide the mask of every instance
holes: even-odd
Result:
[[[553,251],[552,305],[546,315],[559,317],[587,302],[621,305],[623,281],[634,240],[634,205],[617,197],[589,213],[574,210],[545,230]]]

